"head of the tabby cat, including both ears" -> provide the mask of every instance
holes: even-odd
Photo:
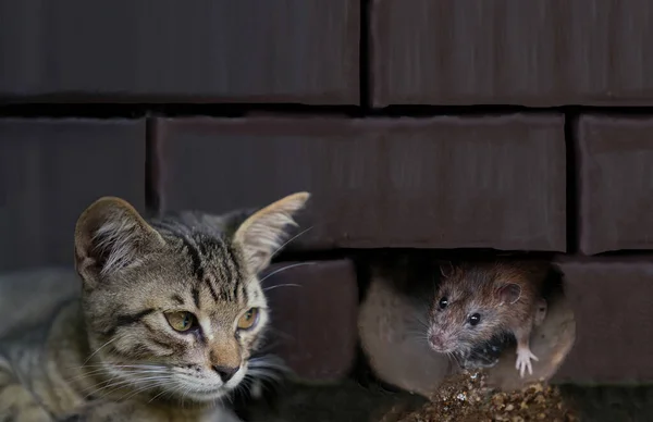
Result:
[[[269,319],[257,274],[308,197],[151,222],[119,198],[86,209],[76,269],[93,359],[112,385],[195,401],[236,387]]]

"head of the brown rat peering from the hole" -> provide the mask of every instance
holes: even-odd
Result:
[[[486,265],[443,271],[428,330],[429,346],[441,353],[465,353],[505,328],[508,309],[521,286]]]

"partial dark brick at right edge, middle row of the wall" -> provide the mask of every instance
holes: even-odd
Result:
[[[580,250],[653,249],[653,119],[586,115],[577,138]]]

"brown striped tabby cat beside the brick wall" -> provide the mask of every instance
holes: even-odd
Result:
[[[257,274],[308,193],[257,212],[146,221],[104,197],[75,226],[79,300],[0,342],[0,421],[232,421],[218,404],[264,373]]]

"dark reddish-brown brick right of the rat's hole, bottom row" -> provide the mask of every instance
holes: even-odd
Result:
[[[555,380],[576,384],[651,382],[651,259],[566,259],[559,265],[576,316],[576,344]]]

